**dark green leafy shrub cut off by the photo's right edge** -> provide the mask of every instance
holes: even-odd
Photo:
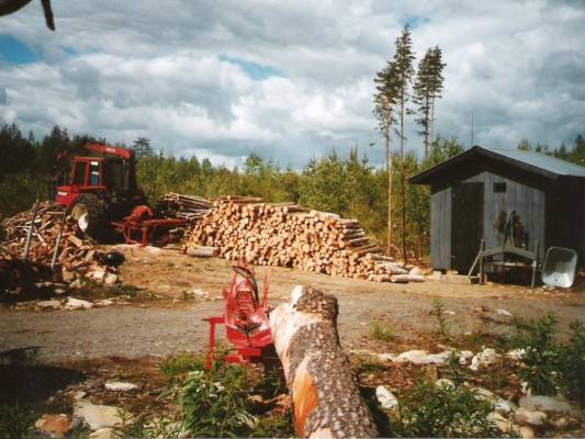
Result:
[[[585,325],[582,322],[571,324],[571,337],[559,350],[558,364],[561,390],[585,403]]]

